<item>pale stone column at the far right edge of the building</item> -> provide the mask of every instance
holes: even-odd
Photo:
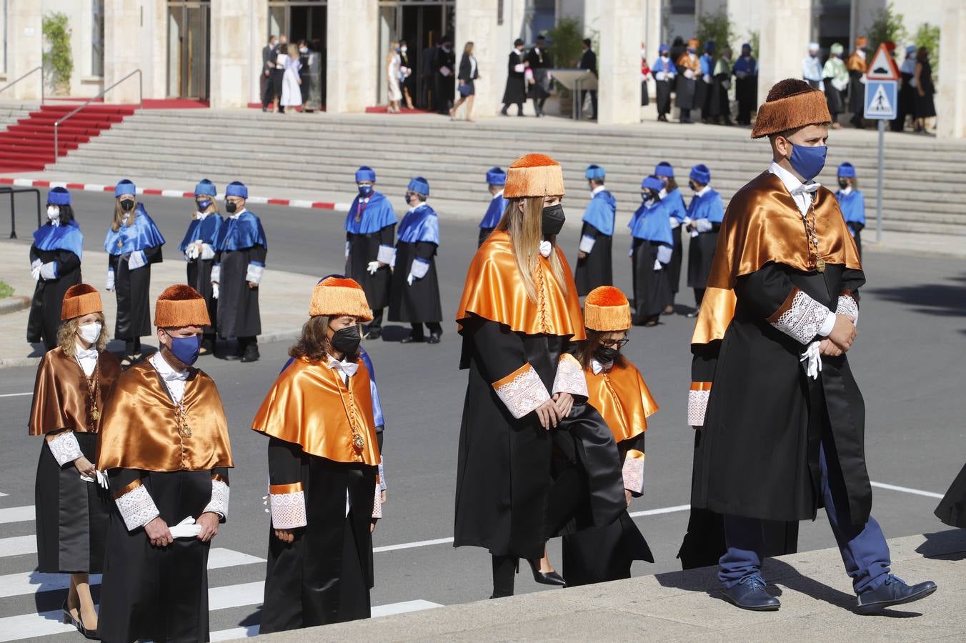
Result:
[[[945,16],[939,31],[939,78],[936,99],[936,137],[966,137],[966,6],[944,0]]]

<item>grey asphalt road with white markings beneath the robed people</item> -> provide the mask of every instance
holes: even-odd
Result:
[[[580,218],[582,199],[571,198],[565,203],[573,220]],[[174,246],[183,234],[190,202],[157,197],[146,198],[144,203],[168,238],[169,261],[178,261]],[[88,231],[85,246],[99,248],[99,231],[111,211],[110,195],[75,194],[74,204],[82,228]],[[483,196],[481,214],[485,206]],[[344,214],[268,206],[252,210],[262,217],[269,239],[268,269],[319,276],[342,269]],[[4,213],[0,210],[0,216]],[[21,216],[18,223],[21,231],[33,229],[29,218]],[[446,212],[440,212],[440,225],[442,303],[443,310],[452,313],[474,251],[476,229],[471,223],[447,220]],[[91,232],[94,229],[97,234]],[[629,262],[619,249],[628,239],[624,231],[618,236],[615,279],[618,287],[627,290]],[[571,249],[568,255],[575,255],[578,229],[568,227],[562,237]],[[871,478],[876,483],[907,489],[874,489],[873,514],[891,538],[940,526],[932,516],[937,500],[928,494],[944,492],[966,460],[961,380],[966,362],[966,266],[952,259],[902,254],[867,253],[866,260],[868,284],[863,290],[860,334],[850,358],[866,397]],[[684,292],[679,299],[690,303],[692,296]],[[686,396],[692,327],[692,321],[678,315],[663,319],[656,328],[635,328],[625,349],[661,405],[648,423],[645,490],[632,505],[632,512],[676,508],[689,502],[692,432],[686,423]],[[376,546],[389,550],[377,549],[375,554],[374,605],[405,601],[448,604],[485,599],[490,593],[490,564],[484,550],[454,549],[445,542],[424,543],[452,536],[466,374],[457,369],[460,341],[455,324],[444,323],[444,331],[442,343],[435,347],[401,345],[397,341],[366,344],[384,402],[384,457],[389,485],[385,517],[375,535]],[[405,330],[398,327],[386,335],[398,339]],[[219,595],[223,602],[218,607],[213,605],[213,631],[258,622],[259,587],[252,583],[264,580],[264,563],[241,554],[260,559],[266,555],[269,517],[262,505],[267,480],[266,440],[248,428],[286,359],[286,349],[285,343],[265,344],[262,360],[254,364],[213,358],[199,363],[221,391],[237,466],[232,474],[231,516],[214,540],[214,546],[231,552],[226,554],[230,559],[227,566],[210,573],[211,587],[225,588]],[[0,497],[0,640],[14,637],[16,628],[36,625],[38,617],[30,615],[57,609],[64,594],[43,591],[49,586],[38,587],[46,580],[36,575],[31,576],[27,587],[21,587],[21,576],[25,578],[24,574],[36,566],[35,554],[21,552],[22,547],[29,547],[35,533],[33,518],[32,513],[24,511],[28,519],[17,519],[15,511],[7,511],[33,504],[40,441],[27,437],[25,431],[30,396],[10,397],[29,392],[33,377],[34,370],[28,368],[0,371],[0,431],[4,435],[0,492],[6,494]],[[636,563],[635,574],[679,569],[675,555],[687,518],[687,511],[680,509],[636,518],[657,562]],[[803,523],[800,549],[834,545],[823,516],[814,523]],[[552,543],[551,552],[559,561],[557,543]],[[902,570],[895,572],[901,575]],[[526,566],[517,586],[519,592],[543,589],[528,576]],[[42,625],[47,623],[41,621]],[[69,640],[67,635],[62,638]]]

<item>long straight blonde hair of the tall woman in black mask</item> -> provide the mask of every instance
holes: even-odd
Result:
[[[523,211],[518,204],[523,204]],[[544,197],[518,197],[510,199],[503,217],[497,223],[497,230],[510,235],[510,249],[513,260],[520,270],[520,280],[524,283],[526,296],[530,301],[537,301],[537,287],[533,282],[534,275],[540,267],[540,241],[543,240],[543,207]],[[550,238],[556,249],[556,235]],[[551,252],[547,258],[556,283],[563,294],[567,294],[567,282],[563,275],[563,266],[556,252]]]

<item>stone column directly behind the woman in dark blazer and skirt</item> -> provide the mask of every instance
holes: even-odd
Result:
[[[473,100],[474,118],[489,117],[497,113],[506,84],[506,57],[510,53],[512,42],[508,44],[500,38],[497,4],[498,0],[471,0],[461,2],[456,7],[454,41],[457,43],[457,71],[463,45],[468,41],[473,43],[473,56],[479,66],[480,77],[473,83],[476,96]],[[458,92],[456,98],[459,98]],[[463,113],[463,108],[460,113]]]

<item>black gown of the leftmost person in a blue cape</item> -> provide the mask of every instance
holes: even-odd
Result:
[[[43,342],[47,350],[57,348],[57,329],[60,328],[61,305],[71,286],[80,283],[80,259],[70,250],[38,250],[30,246],[30,263],[57,262],[56,279],[38,279],[27,318],[27,341]]]

